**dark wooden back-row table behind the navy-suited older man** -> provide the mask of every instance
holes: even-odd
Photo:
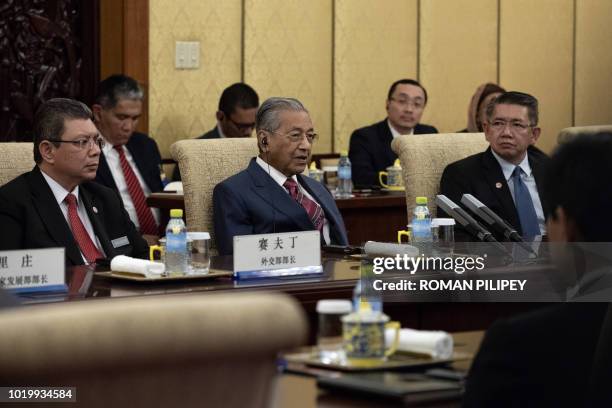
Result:
[[[172,208],[185,209],[185,200],[180,193],[153,193],[147,197],[147,205],[167,215]],[[366,241],[394,242],[397,231],[406,229],[408,224],[403,192],[356,193],[352,198],[337,198],[336,205],[351,245]]]

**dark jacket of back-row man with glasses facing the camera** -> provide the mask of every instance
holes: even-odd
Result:
[[[415,135],[430,133],[438,133],[438,129],[420,123],[414,127]],[[349,159],[355,187],[380,186],[378,172],[392,166],[397,159],[397,154],[391,150],[392,140],[393,135],[387,119],[353,132],[349,144]]]

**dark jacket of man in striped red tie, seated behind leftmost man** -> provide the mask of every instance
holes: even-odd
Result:
[[[138,171],[140,171],[149,190],[151,190],[152,193],[162,191],[164,186],[161,181],[160,173],[162,164],[161,154],[159,153],[159,148],[155,140],[144,133],[134,132],[125,147],[128,148],[130,154],[134,158],[134,163],[136,163],[136,167],[138,167]],[[96,181],[119,192],[104,154],[100,155],[100,164],[98,165]]]

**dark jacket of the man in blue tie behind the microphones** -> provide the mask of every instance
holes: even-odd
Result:
[[[538,188],[542,209],[544,210],[544,217],[547,217],[547,206],[545,197],[542,194],[542,182],[545,177],[548,156],[536,147],[530,147],[527,150],[527,154]],[[510,193],[510,188],[499,162],[495,159],[493,153],[491,153],[490,147],[482,153],[477,153],[451,163],[444,169],[440,179],[440,194],[444,194],[458,205],[461,205],[461,197],[466,193],[472,194],[497,215],[510,223],[522,235],[521,223],[512,194]],[[440,208],[438,208],[437,216],[440,218],[448,217]],[[466,231],[460,228],[457,228],[456,232],[455,239],[457,241],[474,240],[474,238],[470,238]],[[497,240],[505,240],[502,235],[495,234],[494,231],[491,231],[491,233],[495,235]]]

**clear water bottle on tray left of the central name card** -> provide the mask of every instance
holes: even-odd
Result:
[[[189,253],[183,210],[170,210],[170,217],[166,226],[166,273],[185,275],[189,272]]]

